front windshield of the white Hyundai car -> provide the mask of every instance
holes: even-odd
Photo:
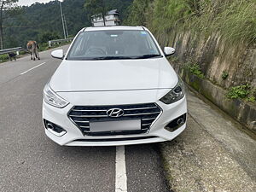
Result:
[[[147,31],[111,30],[80,32],[67,60],[116,60],[161,57]]]

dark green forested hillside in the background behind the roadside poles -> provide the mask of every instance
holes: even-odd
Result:
[[[70,36],[75,36],[84,26],[91,26],[90,13],[84,9],[84,2],[89,0],[64,0],[63,14],[67,20],[67,29]],[[109,9],[119,9],[125,19],[127,7],[132,0],[104,0]],[[29,40],[36,40],[40,44],[46,43],[49,38],[63,38],[61,10],[58,1],[49,3],[34,3],[30,7],[20,8],[22,15],[13,15],[3,26],[4,47],[26,47]]]

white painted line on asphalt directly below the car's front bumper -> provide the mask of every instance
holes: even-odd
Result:
[[[126,176],[126,168],[125,168],[125,146],[116,147],[115,192],[127,192],[127,176]]]

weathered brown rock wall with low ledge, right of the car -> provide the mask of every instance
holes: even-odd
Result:
[[[256,49],[245,44],[226,44],[218,34],[203,38],[195,33],[183,32],[156,36],[162,47],[173,46],[175,57],[172,66],[183,80],[206,96],[231,117],[256,131],[256,105],[240,99],[227,98],[227,89],[239,84],[251,84],[256,88]],[[201,79],[188,70],[187,65],[200,65],[205,78]],[[223,73],[227,73],[223,79]]]

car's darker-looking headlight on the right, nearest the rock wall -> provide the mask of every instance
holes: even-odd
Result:
[[[185,89],[183,85],[182,79],[178,77],[177,85],[166,94],[166,96],[160,99],[161,102],[166,104],[171,104],[172,102],[177,102],[178,100],[182,99],[185,95]]]

